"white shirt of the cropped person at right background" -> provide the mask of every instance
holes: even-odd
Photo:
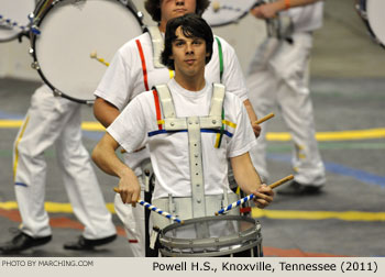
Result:
[[[292,8],[283,14],[288,14],[293,19],[295,32],[315,31],[322,26],[323,1]]]

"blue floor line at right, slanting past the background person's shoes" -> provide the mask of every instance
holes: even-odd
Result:
[[[267,158],[272,160],[278,160],[278,162],[284,162],[284,163],[292,163],[292,156],[289,155],[279,155],[279,154],[267,154]],[[324,168],[327,171],[332,173],[332,174],[338,174],[338,175],[343,175],[343,176],[349,176],[354,179],[358,179],[362,182],[366,182],[370,185],[376,185],[382,188],[385,188],[385,177],[384,176],[378,176],[375,174],[371,174],[361,169],[355,169],[352,167],[339,165],[336,163],[331,162],[324,162]]]

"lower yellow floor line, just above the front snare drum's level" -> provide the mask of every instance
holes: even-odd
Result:
[[[15,201],[0,202],[0,209],[16,210]],[[113,203],[107,203],[107,209],[116,213]],[[45,202],[45,210],[50,213],[73,213],[69,203]],[[287,220],[327,220],[338,219],[344,221],[385,221],[385,212],[361,211],[279,211],[252,209],[253,218],[287,219]]]

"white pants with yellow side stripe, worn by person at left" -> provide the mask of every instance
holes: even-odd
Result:
[[[44,151],[54,144],[74,213],[85,225],[82,235],[96,240],[116,234],[111,213],[106,208],[89,154],[81,142],[80,123],[79,103],[54,97],[47,86],[40,87],[32,96],[31,107],[13,147],[21,230],[31,236],[52,233],[44,209]]]

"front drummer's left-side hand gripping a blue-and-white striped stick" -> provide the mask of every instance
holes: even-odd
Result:
[[[138,177],[133,173],[124,173],[119,180],[119,193],[123,203],[131,203],[132,207],[136,206],[136,201],[141,195],[141,185]]]

